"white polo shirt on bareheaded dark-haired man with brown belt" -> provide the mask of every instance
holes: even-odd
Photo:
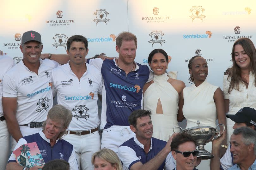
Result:
[[[90,64],[86,64],[86,67],[80,81],[72,72],[69,62],[52,71],[58,104],[69,108],[73,114],[67,129],[70,131],[87,131],[100,124],[97,101],[98,94],[102,94],[102,76],[96,67]]]

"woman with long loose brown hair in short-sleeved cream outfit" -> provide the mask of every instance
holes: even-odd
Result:
[[[240,38],[234,43],[232,61],[230,74],[223,79],[226,113],[236,114],[243,107],[256,109],[256,50],[249,38]],[[227,119],[228,141],[234,124]]]

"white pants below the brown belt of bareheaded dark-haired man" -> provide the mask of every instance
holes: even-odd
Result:
[[[101,149],[99,131],[86,135],[67,134],[63,137],[74,146],[76,159],[80,170],[92,170],[92,155]]]

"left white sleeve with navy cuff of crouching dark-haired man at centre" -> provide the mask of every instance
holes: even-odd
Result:
[[[136,152],[128,146],[120,146],[118,149],[118,156],[123,165],[129,169],[133,164],[140,161]]]

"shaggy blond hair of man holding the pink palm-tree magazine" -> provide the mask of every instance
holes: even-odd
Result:
[[[72,117],[73,115],[71,111],[60,104],[56,104],[55,106],[53,106],[47,114],[47,119],[51,119],[52,121],[62,121],[64,127],[69,126],[72,120]],[[44,121],[42,125],[43,130],[45,130],[46,121]],[[66,130],[64,130],[63,132],[60,132],[58,139],[61,139],[62,136],[66,133],[67,133]]]

